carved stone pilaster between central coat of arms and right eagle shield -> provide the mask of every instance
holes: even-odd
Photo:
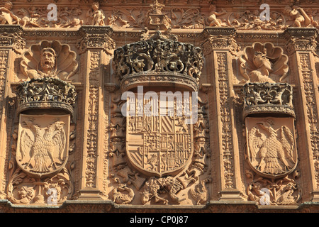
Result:
[[[232,103],[232,61],[237,51],[234,28],[206,28],[202,44],[207,65],[213,192],[211,199],[241,200],[240,163]],[[213,149],[216,150],[213,150]]]

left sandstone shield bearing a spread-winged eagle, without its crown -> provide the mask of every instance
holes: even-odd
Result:
[[[65,167],[69,157],[67,115],[20,114],[16,162],[30,175],[52,175]]]

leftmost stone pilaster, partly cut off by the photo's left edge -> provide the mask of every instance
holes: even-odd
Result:
[[[23,38],[21,38],[22,28],[21,26],[0,26],[0,131],[7,131],[7,123],[12,122],[11,119],[8,121],[10,114],[8,113],[9,96],[11,96],[10,78],[11,69],[14,67],[14,60],[16,55],[21,53],[24,45],[26,45]],[[11,131],[10,131],[11,132]],[[6,161],[6,150],[7,137],[9,134],[1,133],[0,136],[0,172],[6,172],[5,161]],[[10,135],[11,136],[11,135]],[[4,193],[6,187],[6,179],[4,175],[0,177],[0,198]]]

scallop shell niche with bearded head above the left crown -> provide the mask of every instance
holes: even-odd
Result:
[[[57,40],[43,40],[23,52],[21,71],[27,79],[74,79],[73,76],[78,70],[76,57],[69,45],[63,45]]]

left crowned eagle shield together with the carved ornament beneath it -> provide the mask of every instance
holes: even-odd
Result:
[[[19,120],[6,189],[12,203],[57,205],[71,199],[76,95],[72,85],[49,77],[19,85]]]

